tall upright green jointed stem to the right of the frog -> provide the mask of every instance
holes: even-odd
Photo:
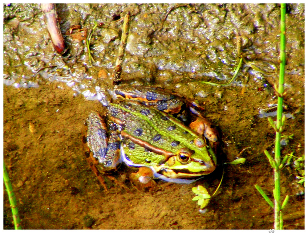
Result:
[[[280,140],[282,125],[282,104],[284,92],[284,72],[286,64],[286,4],[281,4],[281,20],[280,20],[280,71],[278,85],[278,106],[277,106],[277,121],[276,121],[276,140],[275,140],[275,162],[280,165]],[[280,169],[274,167],[274,228],[282,229],[282,213],[280,201]]]

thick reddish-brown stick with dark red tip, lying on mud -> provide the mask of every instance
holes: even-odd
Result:
[[[42,3],[41,8],[45,13],[47,30],[51,37],[52,44],[59,54],[63,54],[65,52],[65,44],[59,27],[55,4]]]

